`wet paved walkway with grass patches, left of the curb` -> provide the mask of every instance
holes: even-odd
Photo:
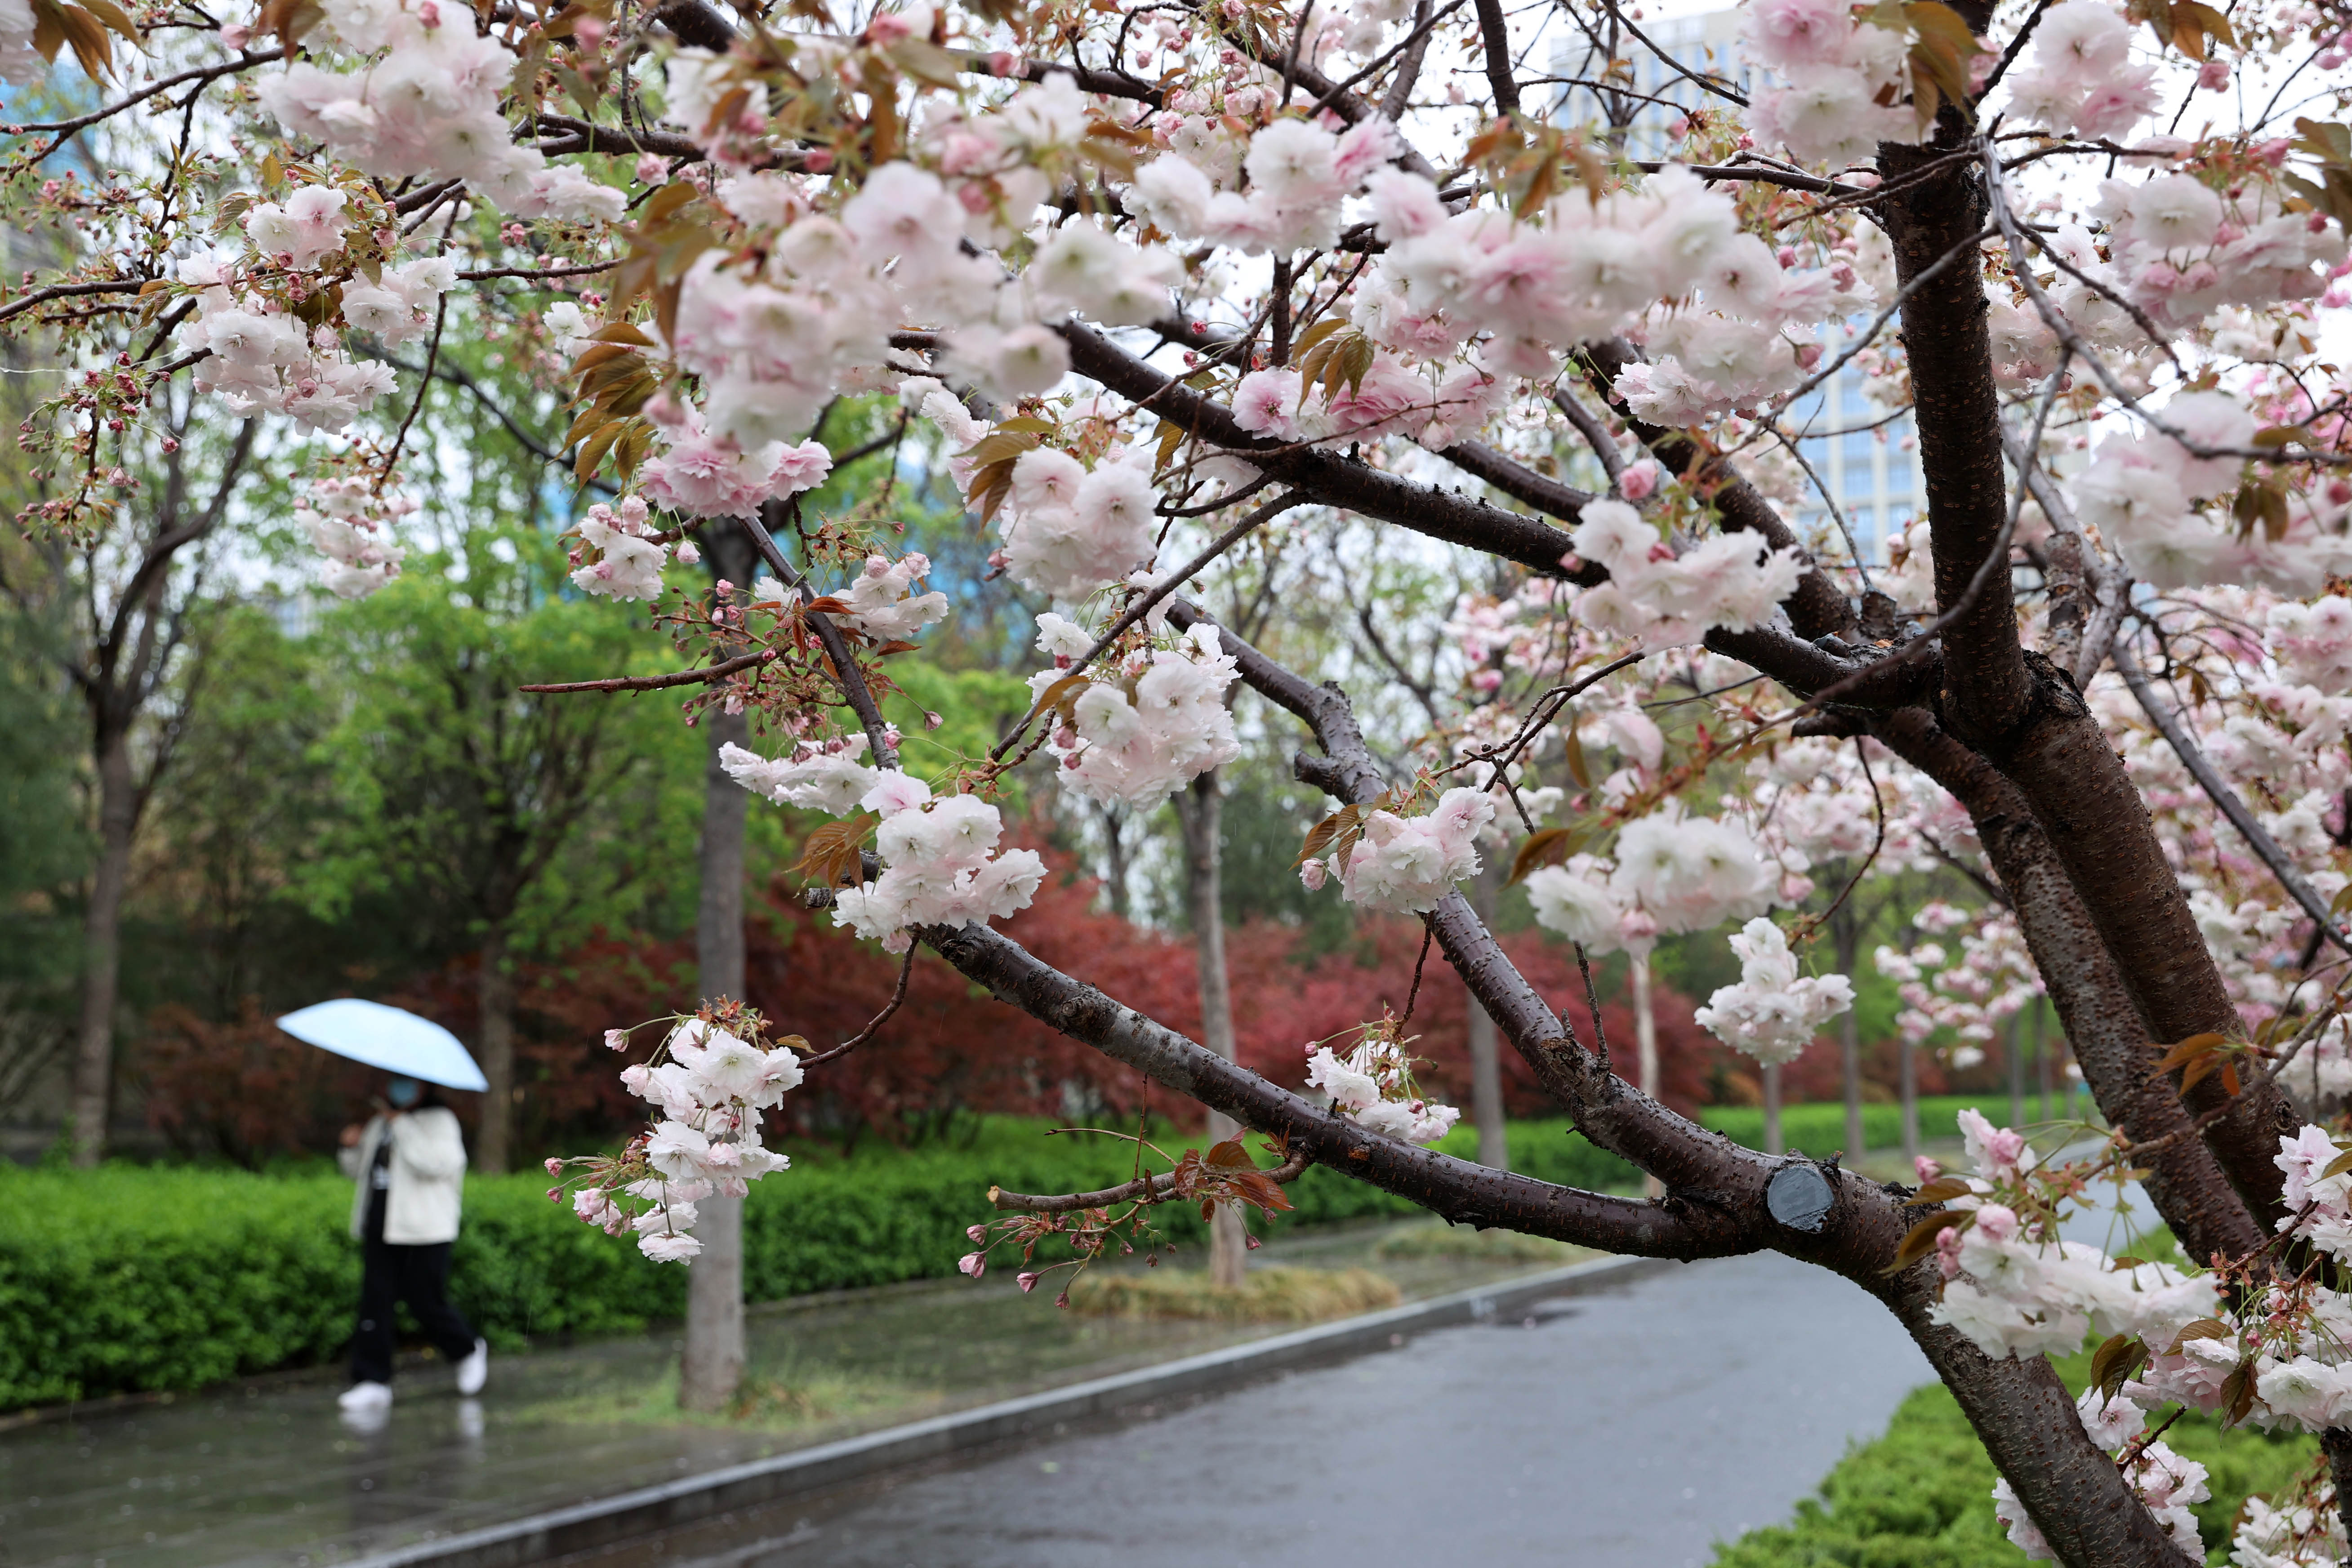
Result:
[[[1251,1262],[1374,1267],[1406,1300],[1555,1267],[1378,1258],[1397,1229],[1287,1237]],[[1181,1253],[1162,1267],[1197,1262]],[[459,1399],[442,1366],[405,1366],[374,1432],[341,1422],[332,1373],[228,1387],[0,1432],[0,1563],[339,1563],[1287,1328],[1084,1319],[990,1276],[755,1309],[760,1394],[743,1420],[677,1413],[675,1333],[499,1356],[482,1399]]]

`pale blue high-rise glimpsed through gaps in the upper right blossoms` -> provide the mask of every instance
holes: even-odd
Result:
[[[1595,26],[1609,26],[1606,16]],[[1628,155],[1670,158],[1677,148],[1670,125],[1708,103],[1708,94],[1691,75],[1724,78],[1743,92],[1750,82],[1752,73],[1740,59],[1740,12],[1637,19],[1630,26],[1642,28],[1653,47],[1644,47],[1642,38],[1630,33],[1613,40],[1606,33],[1599,38],[1566,33],[1552,47],[1552,75],[1562,82],[1559,122],[1606,125],[1611,108],[1618,108],[1630,113]],[[1616,59],[1630,66],[1630,82],[1606,75],[1611,42]],[[1625,82],[1630,92],[1611,92],[1613,82]],[[1832,339],[1823,348],[1835,357],[1844,346]],[[1804,461],[1813,465],[1820,487],[1837,498],[1863,559],[1879,564],[1886,559],[1886,541],[1900,538],[1919,515],[1919,449],[1910,411],[1889,421],[1886,411],[1863,395],[1863,381],[1858,367],[1839,369],[1783,416],[1783,428],[1799,437]],[[1806,494],[1795,522],[1806,531],[1823,527],[1835,534],[1818,491]]]

